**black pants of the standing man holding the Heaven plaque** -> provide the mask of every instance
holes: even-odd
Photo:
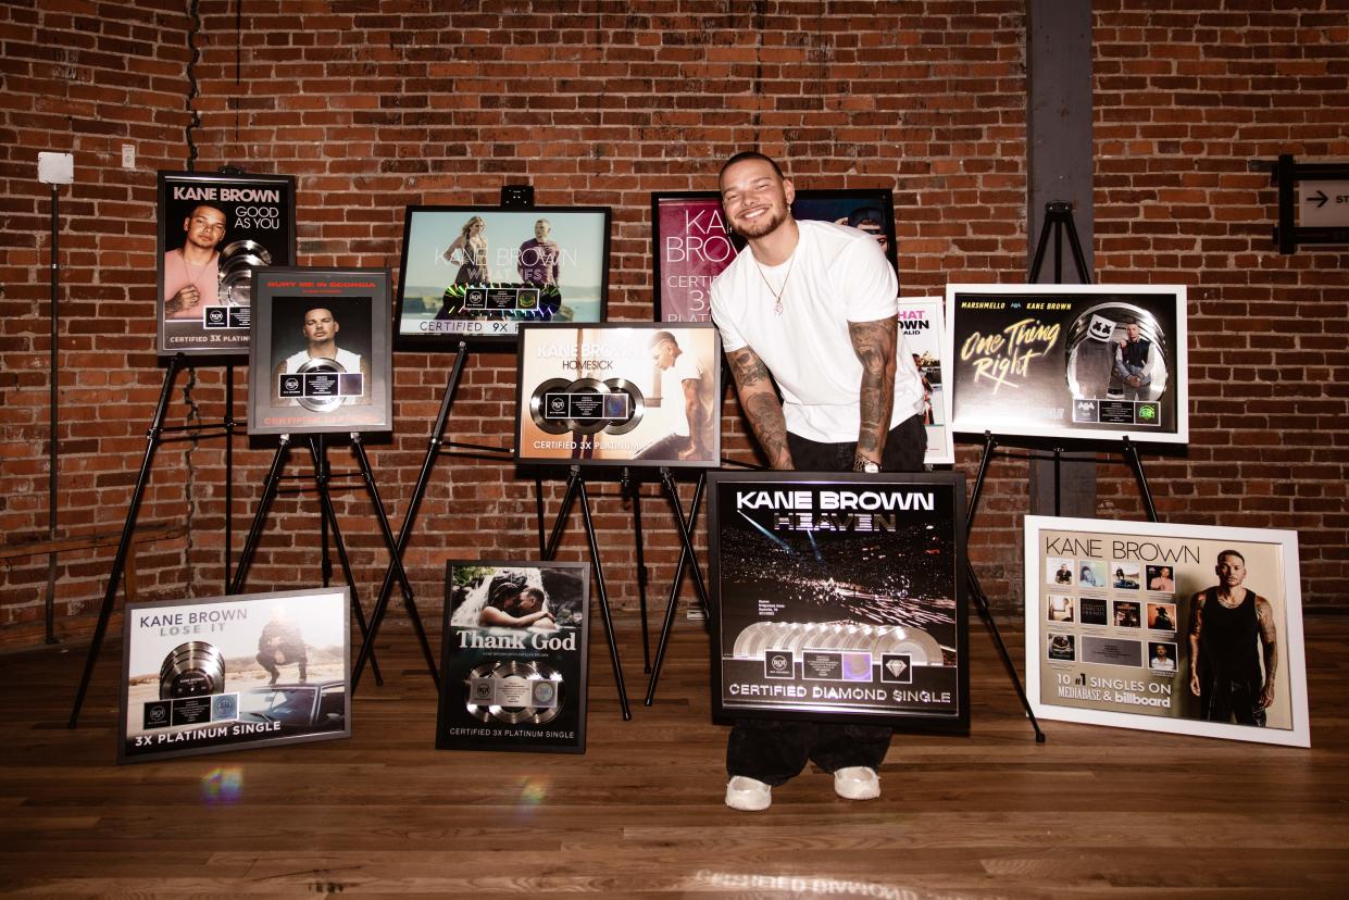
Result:
[[[853,471],[857,441],[820,444],[788,432],[786,443],[792,464],[800,471]],[[925,452],[923,417],[911,416],[886,436],[881,470],[919,471]],[[731,777],[742,775],[776,787],[800,775],[807,761],[826,772],[851,766],[877,769],[890,749],[890,727],[884,725],[737,719],[726,743],[726,772]]]

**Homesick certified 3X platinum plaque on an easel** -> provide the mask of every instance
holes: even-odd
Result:
[[[521,463],[687,467],[722,457],[711,324],[526,324],[518,367]]]

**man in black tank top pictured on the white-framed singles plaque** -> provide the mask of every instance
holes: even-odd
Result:
[[[1246,560],[1237,551],[1218,553],[1214,573],[1218,583],[1190,600],[1190,691],[1206,722],[1264,727],[1279,672],[1273,607],[1241,587]]]

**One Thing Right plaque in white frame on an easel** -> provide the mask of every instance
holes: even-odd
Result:
[[[1184,444],[1186,289],[947,285],[952,428]]]

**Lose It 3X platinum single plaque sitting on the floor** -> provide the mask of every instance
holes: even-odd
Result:
[[[351,737],[348,588],[128,603],[117,762]]]

